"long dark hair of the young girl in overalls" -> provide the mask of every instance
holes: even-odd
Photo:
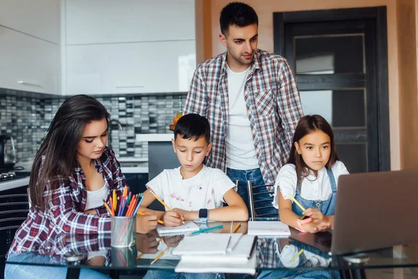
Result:
[[[318,175],[318,172],[316,172],[314,169],[311,169],[310,167],[308,167],[306,163],[304,163],[302,155],[297,153],[295,146],[295,142],[299,143],[302,137],[316,130],[323,131],[323,133],[327,134],[330,137],[331,141],[330,159],[328,160],[325,167],[327,169],[330,169],[332,165],[334,165],[336,160],[339,160],[338,156],[336,155],[334,133],[332,133],[332,128],[330,124],[323,118],[323,116],[320,116],[318,114],[303,116],[297,123],[295,135],[293,135],[291,156],[288,160],[288,164],[293,164],[296,166],[297,187],[300,187],[300,182],[302,181],[302,179],[304,179],[304,177],[308,176],[309,171],[312,171],[315,175]]]

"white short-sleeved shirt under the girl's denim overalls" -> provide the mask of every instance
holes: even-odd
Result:
[[[338,186],[338,178],[340,175],[348,174],[348,170],[343,162],[336,161],[331,167],[336,186]],[[274,200],[273,206],[279,208],[279,199],[277,194],[279,190],[284,199],[291,199],[289,195],[295,197],[297,187],[296,167],[293,164],[286,164],[279,170],[276,183],[274,184]],[[307,177],[302,180],[300,186],[300,197],[308,200],[325,201],[332,194],[330,179],[328,178],[327,169],[323,167],[318,170],[318,176],[315,177],[314,172],[310,172]]]

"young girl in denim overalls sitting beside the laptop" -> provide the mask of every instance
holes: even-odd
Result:
[[[319,115],[303,116],[293,135],[288,163],[281,167],[274,185],[274,207],[280,220],[300,232],[321,232],[332,228],[336,202],[336,181],[348,174],[338,160],[332,128]],[[297,200],[302,211],[292,198]],[[306,216],[303,220],[302,216]],[[308,271],[295,278],[339,278],[336,271]],[[277,271],[264,271],[259,278],[277,278]],[[284,277],[284,276],[281,276]]]

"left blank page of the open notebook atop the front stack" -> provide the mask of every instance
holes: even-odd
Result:
[[[225,255],[230,239],[229,234],[209,233],[185,237],[173,250],[173,255]]]

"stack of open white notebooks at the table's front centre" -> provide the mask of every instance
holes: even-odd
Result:
[[[242,234],[198,234],[185,237],[173,250],[181,256],[176,272],[256,272],[256,236]]]

